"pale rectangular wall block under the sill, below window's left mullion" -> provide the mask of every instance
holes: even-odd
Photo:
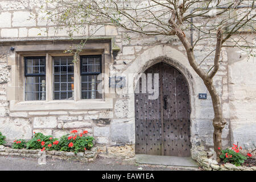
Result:
[[[57,126],[56,117],[35,117],[34,128],[55,128]]]

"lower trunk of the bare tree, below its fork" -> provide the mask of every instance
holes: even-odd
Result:
[[[218,93],[213,85],[212,78],[208,78],[207,80],[204,80],[204,84],[205,86],[207,86],[207,89],[210,93],[210,97],[212,97],[212,105],[214,110],[213,144],[214,144],[214,151],[217,154],[217,162],[220,162],[221,160],[220,155],[221,155],[221,149],[222,149],[221,134],[222,134],[222,129],[225,127],[226,121],[225,119],[223,119],[220,96],[218,96]]]

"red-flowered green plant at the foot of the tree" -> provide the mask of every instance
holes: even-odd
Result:
[[[239,153],[239,149],[236,145],[233,147],[233,150],[227,148],[221,152],[222,154],[220,155],[220,158],[224,163],[232,163],[236,166],[241,166],[241,164],[247,159],[246,156]]]

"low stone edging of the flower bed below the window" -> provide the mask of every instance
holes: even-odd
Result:
[[[1,147],[0,155],[9,155],[9,156],[23,156],[23,157],[32,157],[39,158],[40,150],[26,150],[26,149],[14,149],[9,147]],[[81,162],[93,162],[97,157],[98,148],[92,147],[91,150],[86,150],[85,152],[65,152],[65,151],[46,151],[46,158],[50,159],[78,159]]]

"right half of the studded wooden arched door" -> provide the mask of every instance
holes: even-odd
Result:
[[[190,156],[190,106],[185,77],[163,64],[163,148],[164,155]]]

